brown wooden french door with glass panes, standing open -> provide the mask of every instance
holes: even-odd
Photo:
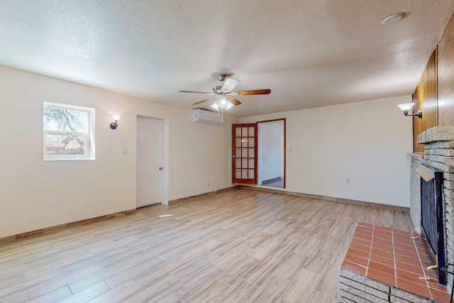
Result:
[[[233,124],[232,183],[257,184],[257,123]]]

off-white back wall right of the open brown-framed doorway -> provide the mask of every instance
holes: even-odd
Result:
[[[411,96],[240,119],[287,119],[287,190],[409,207]],[[289,151],[291,149],[291,151]],[[345,180],[349,178],[350,183]]]

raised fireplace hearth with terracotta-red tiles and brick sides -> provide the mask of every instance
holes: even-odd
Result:
[[[339,302],[449,302],[421,238],[358,223],[339,270]],[[428,277],[423,280],[420,277]]]

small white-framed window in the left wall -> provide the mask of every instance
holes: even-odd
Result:
[[[44,160],[94,159],[94,109],[43,103]]]

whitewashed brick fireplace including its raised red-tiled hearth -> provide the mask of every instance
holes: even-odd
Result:
[[[411,153],[410,215],[421,225],[421,165],[443,172],[443,231],[445,263],[454,263],[454,126],[435,126],[418,136],[423,153]],[[420,229],[417,229],[420,233]],[[339,302],[448,302],[448,285],[438,284],[433,263],[421,236],[392,228],[358,223],[339,270]],[[454,267],[450,266],[449,271]],[[431,277],[424,280],[424,277]]]

